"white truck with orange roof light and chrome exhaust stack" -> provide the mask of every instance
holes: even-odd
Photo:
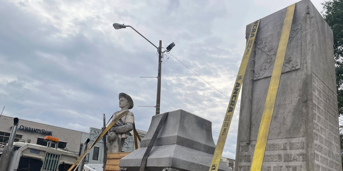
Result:
[[[52,136],[44,138],[47,146],[31,144],[29,141],[13,142],[17,122],[18,119],[14,118],[10,140],[0,154],[0,171],[67,171],[79,158],[79,155],[68,152],[66,148],[57,148],[59,140]]]

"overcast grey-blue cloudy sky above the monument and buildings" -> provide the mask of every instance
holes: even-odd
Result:
[[[89,132],[117,110],[118,94],[133,98],[136,128],[155,115],[156,48],[166,48],[161,113],[184,109],[220,132],[245,49],[246,25],[296,0],[13,0],[0,1],[0,108],[19,119]],[[323,0],[313,0],[322,11]],[[173,55],[173,56],[171,56]],[[238,101],[239,104],[240,100]],[[239,106],[223,156],[235,158]],[[1,119],[1,118],[0,118]]]

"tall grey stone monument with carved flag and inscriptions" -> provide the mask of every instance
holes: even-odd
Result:
[[[285,13],[260,22],[243,81],[235,171],[250,170]],[[262,171],[341,170],[332,30],[302,0],[295,6]]]

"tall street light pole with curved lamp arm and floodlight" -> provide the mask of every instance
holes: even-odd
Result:
[[[171,43],[169,44],[169,46],[166,48],[166,51],[162,52],[162,40],[159,41],[159,46],[157,47],[154,43],[152,43],[150,40],[148,40],[147,38],[145,38],[142,34],[140,34],[140,32],[138,32],[136,29],[134,29],[131,26],[128,25],[124,25],[124,24],[118,24],[118,23],[114,23],[113,27],[115,29],[121,29],[121,28],[126,28],[126,27],[130,27],[132,28],[134,31],[136,31],[139,35],[141,35],[145,40],[147,40],[149,43],[151,43],[155,48],[157,48],[158,51],[158,73],[157,73],[157,97],[156,97],[156,115],[159,114],[159,109],[160,109],[160,105],[161,105],[161,70],[162,70],[162,54],[164,52],[169,52],[174,46],[175,43]]]

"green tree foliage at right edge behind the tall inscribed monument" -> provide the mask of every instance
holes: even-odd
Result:
[[[322,15],[333,31],[333,52],[336,64],[338,116],[343,115],[343,0],[322,3]],[[340,120],[341,122],[341,120]],[[343,165],[343,126],[340,126],[341,157]]]

